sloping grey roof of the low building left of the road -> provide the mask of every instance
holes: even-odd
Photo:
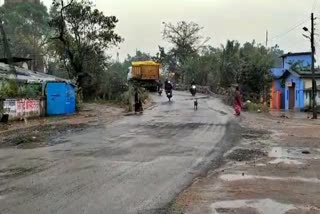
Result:
[[[19,81],[26,81],[26,82],[46,82],[46,81],[62,81],[72,83],[71,80],[63,79],[60,77],[56,77],[53,75],[31,71],[21,67],[15,67],[17,72],[16,79]],[[14,79],[15,76],[10,73],[10,67],[7,64],[0,63],[0,77],[6,79]]]

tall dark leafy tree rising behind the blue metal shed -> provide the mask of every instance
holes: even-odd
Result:
[[[52,40],[60,43],[61,58],[70,66],[71,75],[82,88],[84,97],[88,98],[93,77],[98,76],[95,72],[104,67],[104,50],[122,41],[114,31],[118,19],[93,9],[88,0],[53,0],[52,5],[49,22],[55,33]],[[92,65],[95,66],[93,70],[85,69],[91,59],[101,61]]]

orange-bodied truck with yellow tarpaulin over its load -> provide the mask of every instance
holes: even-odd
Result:
[[[154,61],[132,62],[128,80],[151,91],[156,91],[157,82],[160,79],[160,67],[161,64]]]

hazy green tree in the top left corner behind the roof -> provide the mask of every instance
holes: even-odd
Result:
[[[10,38],[12,55],[31,58],[29,69],[43,71],[50,35],[47,8],[43,4],[27,2],[5,4],[0,8],[0,14],[7,37]]]

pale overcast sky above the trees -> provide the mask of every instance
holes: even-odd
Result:
[[[320,0],[93,1],[106,15],[118,17],[117,31],[125,41],[112,54],[115,56],[118,51],[122,59],[128,53],[134,54],[136,49],[154,54],[158,45],[166,45],[161,38],[161,23],[182,20],[203,26],[203,35],[211,38],[209,44],[213,46],[227,39],[241,43],[255,39],[264,44],[268,30],[269,46],[278,44],[290,52],[309,51],[309,42],[302,36],[303,25],[294,27],[304,21],[309,27],[312,10],[320,17]],[[52,0],[43,2],[50,6]],[[320,33],[320,19],[318,23]],[[316,41],[320,48],[320,37]]]

